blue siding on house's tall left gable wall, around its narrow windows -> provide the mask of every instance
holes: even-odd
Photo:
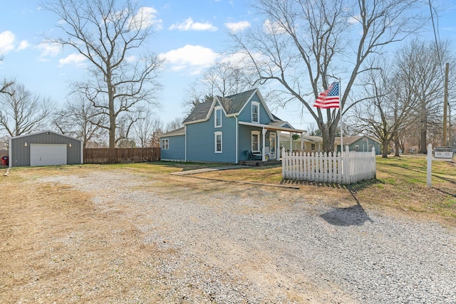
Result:
[[[215,153],[214,132],[222,132],[222,153]],[[222,127],[209,120],[187,125],[187,161],[236,162],[236,118],[222,115]]]

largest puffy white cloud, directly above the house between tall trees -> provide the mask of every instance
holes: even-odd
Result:
[[[183,48],[161,53],[159,56],[171,65],[172,70],[191,70],[192,74],[201,73],[202,69],[213,65],[219,58],[219,54],[210,48],[189,44]]]

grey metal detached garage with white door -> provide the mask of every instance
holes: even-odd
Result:
[[[82,164],[83,142],[53,131],[9,139],[9,167]]]

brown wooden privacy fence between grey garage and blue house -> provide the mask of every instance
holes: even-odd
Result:
[[[86,148],[83,153],[84,164],[132,164],[160,160],[160,147]]]

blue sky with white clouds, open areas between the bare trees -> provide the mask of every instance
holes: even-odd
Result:
[[[158,96],[161,108],[156,111],[166,126],[182,117],[186,91],[202,70],[227,57],[228,31],[242,31],[252,26],[257,17],[252,14],[248,0],[137,1],[140,7],[147,8],[155,26],[147,49],[167,59],[159,78],[163,86]],[[456,5],[452,1],[455,0],[450,0],[448,9],[440,14],[438,28],[440,38],[456,41]],[[43,34],[58,31],[57,22],[53,13],[41,9],[39,1],[2,4],[0,79],[15,78],[26,89],[52,98],[59,106],[67,99],[68,84],[86,76],[87,63],[71,49],[41,43]],[[424,35],[433,38],[432,31]],[[307,130],[312,121],[310,117],[302,121],[300,110],[290,107],[273,112],[295,128]]]

